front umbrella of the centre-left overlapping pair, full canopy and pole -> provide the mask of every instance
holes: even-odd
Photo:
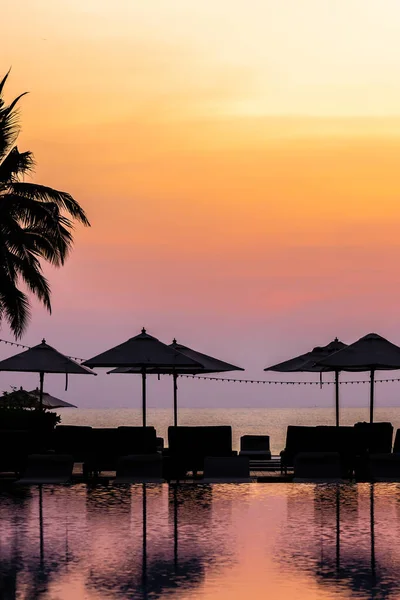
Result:
[[[163,344],[157,338],[146,333],[143,328],[139,335],[126,342],[98,354],[83,364],[88,367],[123,367],[134,368],[134,373],[142,375],[142,416],[143,427],[146,426],[146,375],[157,373],[157,369],[190,369],[196,368],[201,372],[203,366],[186,354],[179,352],[172,346]],[[190,371],[189,371],[190,372]]]

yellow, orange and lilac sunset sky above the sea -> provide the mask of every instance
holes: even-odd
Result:
[[[3,5],[19,148],[92,221],[25,343],[88,357],[144,325],[261,378],[336,335],[400,343],[398,0]],[[66,399],[140,404],[137,378],[82,379]],[[184,403],[310,405],[204,386]]]

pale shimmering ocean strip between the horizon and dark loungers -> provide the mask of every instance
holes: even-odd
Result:
[[[57,409],[57,413],[61,415],[63,425],[118,427],[142,424],[142,413],[137,408],[66,408]],[[343,408],[340,413],[342,425],[368,420],[368,407]],[[165,445],[168,445],[168,427],[172,421],[171,409],[149,408],[147,411],[147,424],[156,428]],[[400,427],[400,407],[377,408],[375,421],[390,421],[395,434]],[[234,450],[239,450],[242,435],[269,435],[272,453],[279,454],[285,447],[288,425],[334,425],[335,413],[333,408],[182,408],[178,412],[178,424],[231,425]]]

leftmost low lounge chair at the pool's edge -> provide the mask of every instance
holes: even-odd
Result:
[[[31,454],[18,484],[69,483],[74,459],[69,454]]]

